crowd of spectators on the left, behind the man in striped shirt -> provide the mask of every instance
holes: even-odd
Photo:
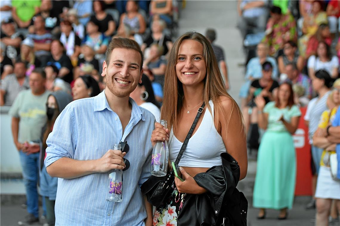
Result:
[[[11,106],[29,213],[19,225],[39,221],[38,183],[43,215],[48,225],[54,225],[57,182],[38,162],[45,158],[47,136],[65,106],[105,89],[102,67],[112,38],[130,38],[142,48],[145,74],[131,98],[159,121],[179,4],[176,0],[0,2],[0,104]]]

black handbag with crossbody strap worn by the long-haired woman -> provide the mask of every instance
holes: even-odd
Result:
[[[194,119],[191,128],[183,142],[183,145],[178,153],[178,156],[175,161],[175,165],[177,166],[180,163],[180,160],[183,156],[184,150],[187,147],[191,134],[198,122],[198,119],[201,116],[201,113],[204,109],[205,103],[203,102],[202,106],[198,109],[196,118]],[[174,172],[171,170],[164,177],[156,177],[151,176],[146,182],[142,184],[140,187],[143,195],[147,196],[148,202],[151,203],[155,207],[159,207],[164,203],[164,201],[168,200],[173,191],[172,184],[175,180]]]

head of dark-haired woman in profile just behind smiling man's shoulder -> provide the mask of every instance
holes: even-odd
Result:
[[[79,76],[72,87],[73,100],[95,97],[100,93],[98,82],[89,75]]]

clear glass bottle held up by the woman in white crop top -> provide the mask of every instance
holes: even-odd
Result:
[[[168,126],[166,120],[160,120],[165,128]],[[169,159],[168,141],[158,141],[152,151],[151,174],[156,177],[163,177],[167,174]]]

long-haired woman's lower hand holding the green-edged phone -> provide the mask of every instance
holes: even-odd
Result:
[[[187,194],[203,194],[207,192],[207,190],[199,186],[195,179],[193,179],[193,177],[191,177],[182,167],[180,167],[180,171],[184,181],[182,182],[175,177],[176,188],[179,192]]]

